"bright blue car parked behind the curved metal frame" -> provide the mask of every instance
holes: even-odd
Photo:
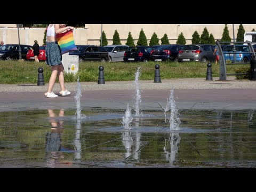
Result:
[[[223,47],[223,56],[224,59],[230,60],[234,62],[234,52],[233,52],[234,45],[226,45]],[[251,53],[248,45],[236,45],[236,62],[250,62],[251,61]]]

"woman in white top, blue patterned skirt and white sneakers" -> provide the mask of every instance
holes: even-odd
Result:
[[[70,92],[66,89],[64,85],[64,67],[62,65],[62,55],[60,51],[60,46],[58,45],[56,34],[63,33],[66,30],[73,30],[74,27],[67,26],[66,24],[50,24],[47,28],[47,42],[46,42],[46,64],[51,66],[52,74],[49,80],[48,90],[45,93],[46,97],[55,98],[58,97],[57,94],[52,92],[56,78],[59,78],[60,89],[59,92],[61,96],[69,95]]]

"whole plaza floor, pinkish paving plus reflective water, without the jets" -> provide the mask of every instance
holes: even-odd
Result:
[[[170,90],[142,90],[143,115],[126,130],[134,90],[83,90],[81,119],[74,91],[2,92],[0,167],[256,167],[255,93],[174,89],[181,124],[170,130]]]

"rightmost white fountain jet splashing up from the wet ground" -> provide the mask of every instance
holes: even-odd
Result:
[[[166,113],[170,110],[170,130],[178,130],[179,129],[179,124],[180,119],[178,117],[178,110],[176,108],[175,100],[174,100],[174,95],[173,95],[173,88],[171,89],[170,97],[169,100],[167,99],[167,105],[166,108],[164,109],[164,115],[166,117]]]

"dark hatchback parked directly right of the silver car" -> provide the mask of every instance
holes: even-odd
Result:
[[[150,60],[150,52],[154,48],[152,46],[130,46],[124,53],[124,62]]]

